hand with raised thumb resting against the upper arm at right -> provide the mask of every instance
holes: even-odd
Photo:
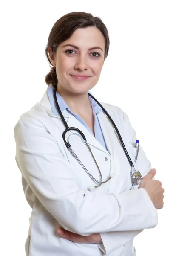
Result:
[[[163,198],[164,198],[164,189],[162,188],[162,183],[159,180],[152,180],[152,178],[156,174],[156,169],[153,168],[148,172],[148,174],[142,178],[142,181],[139,185],[140,188],[144,188],[148,195],[150,196],[150,199],[152,203],[154,204],[156,209],[162,209],[163,208]]]

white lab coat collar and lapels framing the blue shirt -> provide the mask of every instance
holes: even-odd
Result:
[[[48,92],[47,90],[45,91],[42,99],[40,100],[40,105],[45,109],[45,111],[47,111],[47,113],[49,114],[49,116],[51,117],[55,117],[55,118],[60,118],[60,115],[54,114],[52,109],[51,109],[51,104],[50,104],[50,100],[48,97]],[[102,103],[103,105],[103,103]],[[107,105],[108,107],[108,105]],[[106,111],[108,111],[108,113],[111,113],[112,109],[107,109]],[[111,150],[113,150],[112,148],[112,133],[111,132],[107,132],[110,131],[110,129],[113,129],[113,134],[114,134],[114,128],[112,128],[111,122],[108,120],[108,117],[105,115],[105,113],[103,113],[103,111],[97,113],[98,115],[98,119],[100,122],[100,126],[102,128],[102,132],[105,138],[105,143],[107,145],[108,151],[99,143],[99,141],[94,137],[93,134],[91,134],[85,127],[84,125],[82,125],[71,113],[68,113],[68,111],[65,109],[62,111],[62,114],[65,118],[65,121],[67,122],[69,127],[76,127],[78,128],[80,131],[82,131],[82,133],[85,135],[86,140],[88,142],[88,144],[98,148],[101,151],[104,151],[106,154],[110,154],[111,155]],[[63,130],[64,131],[64,130]],[[76,131],[68,131],[68,136],[71,133],[77,133]],[[66,137],[65,137],[66,138]]]

